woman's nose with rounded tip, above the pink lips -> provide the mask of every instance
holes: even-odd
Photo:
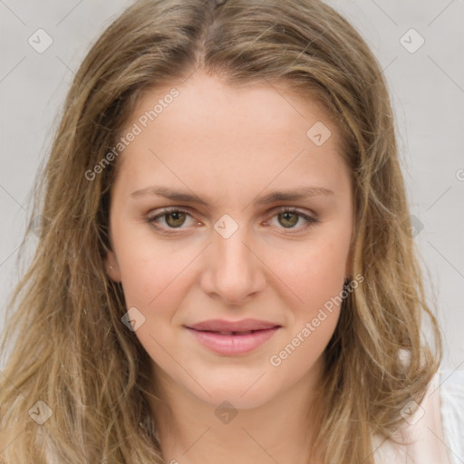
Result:
[[[259,258],[244,228],[228,238],[215,233],[205,256],[202,290],[226,304],[246,304],[266,285],[266,265]]]

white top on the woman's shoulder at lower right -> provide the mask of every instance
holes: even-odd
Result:
[[[407,444],[374,437],[375,464],[464,464],[464,371],[439,370],[401,416],[394,436]]]

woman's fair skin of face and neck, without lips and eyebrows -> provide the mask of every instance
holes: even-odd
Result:
[[[353,194],[339,132],[320,105],[267,82],[233,89],[197,72],[176,88],[179,97],[118,160],[107,256],[127,308],[145,317],[132,336],[150,354],[163,457],[180,464],[303,464],[313,430],[306,413],[340,307],[279,365],[270,359],[351,275]],[[145,95],[127,127],[168,92]],[[320,146],[306,135],[317,121],[332,132]],[[131,195],[150,186],[194,194],[206,205]],[[257,202],[308,187],[330,192]],[[147,216],[165,207],[189,214],[157,218],[162,233]],[[285,216],[284,207],[317,222]],[[226,214],[234,221],[227,227],[238,227],[230,237],[215,229]],[[279,326],[251,353],[215,353],[187,328],[246,318]],[[232,420],[219,420],[223,401],[237,413]]]

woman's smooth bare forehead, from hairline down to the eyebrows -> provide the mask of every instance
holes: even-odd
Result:
[[[118,162],[139,188],[163,177],[197,186],[208,179],[227,195],[232,181],[234,189],[250,181],[263,189],[271,181],[288,186],[347,174],[329,112],[270,82],[234,88],[197,72],[146,92],[125,131],[135,126],[139,133]]]

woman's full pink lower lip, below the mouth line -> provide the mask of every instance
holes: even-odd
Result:
[[[266,330],[258,330],[247,335],[225,335],[217,332],[204,332],[195,329],[189,329],[199,343],[206,346],[211,351],[219,354],[234,355],[245,354],[256,350],[263,343],[266,343],[279,327]]]

